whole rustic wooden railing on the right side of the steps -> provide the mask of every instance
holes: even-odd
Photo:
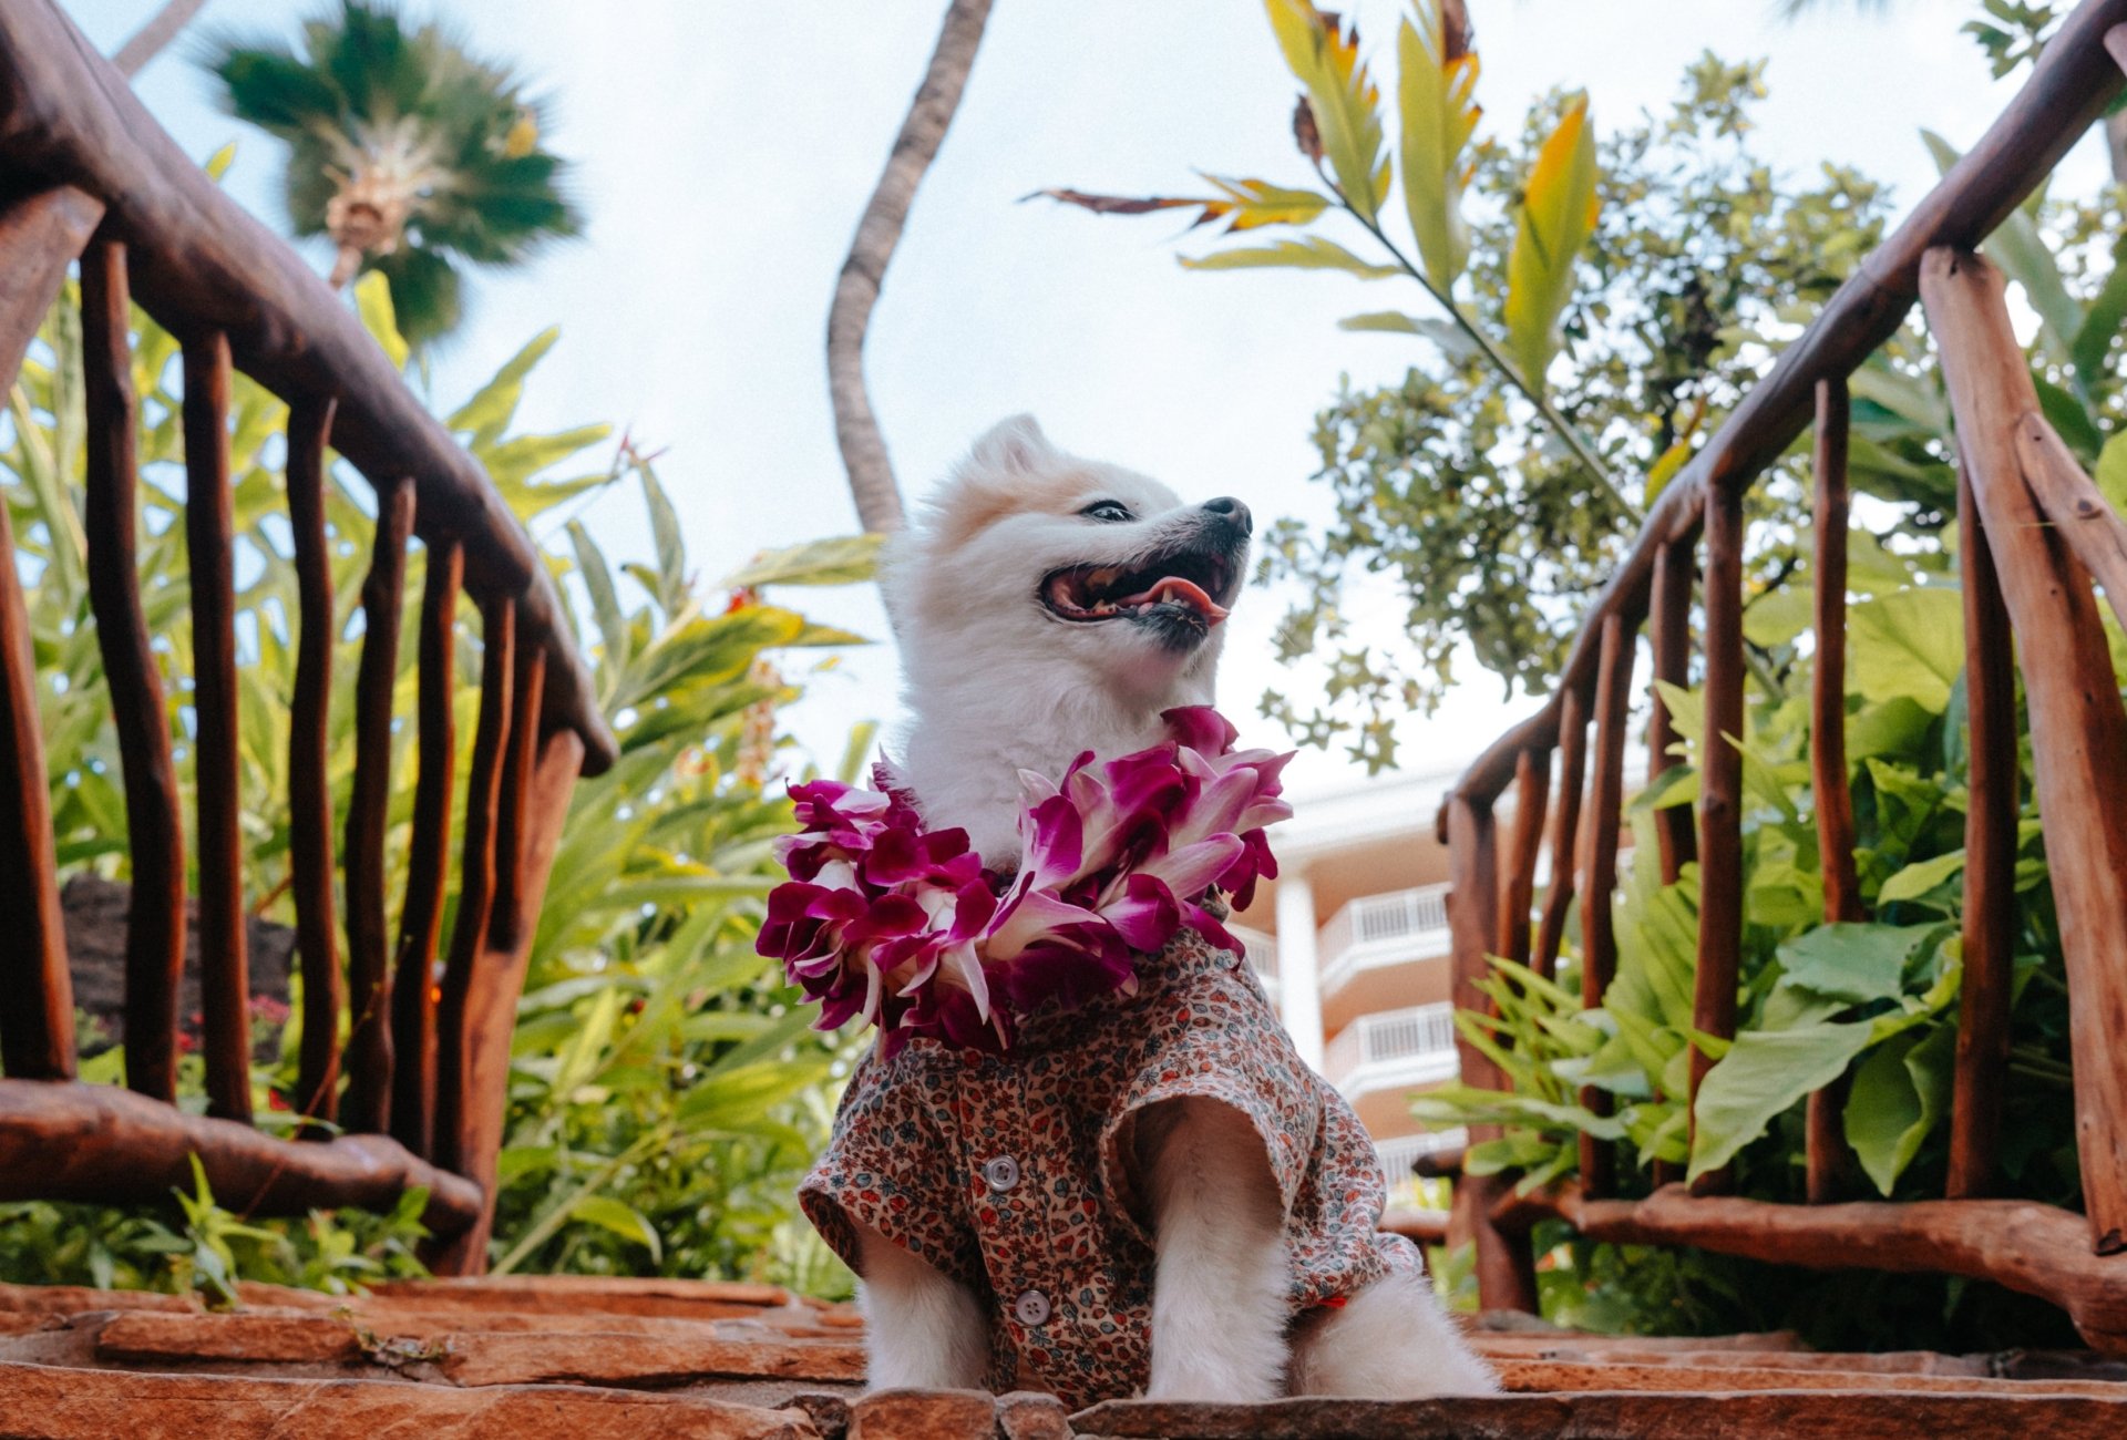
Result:
[[[1536,1308],[1527,1227],[1546,1215],[1627,1244],[1693,1244],[1814,1268],[1929,1270],[1997,1280],[2063,1306],[2084,1338],[2127,1349],[2127,715],[2106,649],[2093,576],[2127,619],[2127,525],[2040,413],[2029,364],[2010,332],[2002,277],[1974,249],[2053,170],[2121,94],[2127,0],[2087,0],[2046,47],[2031,79],[1910,219],[1872,253],[1782,351],[1772,372],[1661,493],[1638,542],[1587,615],[1557,693],[1495,742],[1442,804],[1453,847],[1457,1002],[1483,1008],[1487,955],[1548,974],[1576,887],[1582,998],[1602,1002],[1617,964],[1610,904],[1623,808],[1623,759],[1642,627],[1653,674],[1685,685],[1693,585],[1699,610],[1708,736],[1744,734],[1742,500],[1814,425],[1814,696],[1812,774],[1825,919],[1861,919],[1844,755],[1846,379],[1925,306],[1961,451],[1965,685],[1972,802],[1965,817],[1963,991],[1942,1200],[1825,1204],[1840,1161],[1838,1112],[1810,1098],[1808,1198],[1772,1204],[1723,1195],[1723,1176],[1687,1189],[1657,1172],[1646,1200],[1614,1198],[1610,1142],[1582,1138],[1576,1185],[1514,1193],[1514,1176],[1457,1187],[1457,1234],[1476,1240],[1489,1308]],[[2021,655],[2010,636],[2027,638]],[[2076,1142],[2084,1215],[1991,1200],[2008,1068],[2014,847],[2019,810],[2016,664],[2029,698],[2033,781],[2048,844],[2072,991]],[[1593,721],[1593,742],[1589,723]],[[1655,768],[1674,740],[1659,693],[1648,725]],[[1557,770],[1551,891],[1534,923],[1536,868]],[[1506,883],[1493,806],[1512,789]],[[1702,747],[1697,827],[1663,810],[1661,874],[1699,866],[1695,1029],[1731,1038],[1742,947],[1742,753]],[[1710,1057],[1693,1051],[1691,1091]],[[1463,1044],[1463,1078],[1502,1085]],[[1602,1100],[1589,1091],[1585,1100]],[[1476,1129],[1474,1138],[1487,1138]]]

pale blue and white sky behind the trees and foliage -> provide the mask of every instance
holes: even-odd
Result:
[[[115,49],[155,0],[60,0]],[[474,47],[508,57],[553,102],[549,145],[576,162],[583,240],[530,270],[483,277],[466,332],[434,368],[464,400],[547,325],[519,415],[532,430],[610,421],[664,449],[704,583],[753,553],[855,530],[825,387],[825,321],[857,215],[929,60],[942,0],[408,0]],[[1400,0],[1349,0],[1387,66]],[[1823,0],[1782,23],[1772,0],[1470,0],[1487,125],[1519,123],[1557,85],[1585,85],[1597,128],[1661,111],[1706,49],[1765,60],[1763,153],[1789,174],[1855,164],[1904,213],[1933,183],[1923,128],[1970,145],[2012,94],[1957,28],[1972,0],[1868,11]],[[189,62],[204,32],[291,36],[317,4],[208,0],[187,43],[138,79],[155,117],[196,155],[238,140],[230,191],[285,228],[279,145],[213,106]],[[1868,11],[1868,13],[1855,13]],[[1308,476],[1314,413],[1340,376],[1402,376],[1417,340],[1336,330],[1404,304],[1338,274],[1185,274],[1166,217],[1098,219],[1019,198],[1049,185],[1185,191],[1193,170],[1302,181],[1295,85],[1251,0],[998,0],[953,132],[917,198],[874,313],[868,374],[902,489],[921,496],[968,442],[1032,411],[1066,449],[1166,479],[1185,498],[1240,496],[1259,521],[1321,521]],[[1393,91],[1391,91],[1393,94]],[[2074,172],[2095,177],[2087,143]],[[315,255],[319,268],[328,257]],[[581,515],[619,557],[649,553],[636,491]],[[553,521],[559,523],[559,521]],[[551,528],[551,525],[542,525]],[[885,638],[874,593],[791,591],[815,617]],[[1278,598],[1249,593],[1232,623],[1223,708],[1251,742]],[[1393,627],[1393,608],[1368,613]],[[1478,753],[1531,702],[1474,679],[1440,715],[1404,725],[1404,759],[1444,768]],[[898,713],[891,647],[810,676],[791,717],[827,764],[855,719]],[[1359,772],[1308,753],[1295,787]]]

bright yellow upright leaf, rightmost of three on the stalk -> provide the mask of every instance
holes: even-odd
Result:
[[[1576,96],[1536,153],[1506,259],[1506,330],[1521,379],[1542,391],[1559,349],[1559,315],[1574,291],[1574,255],[1595,232],[1595,132]]]

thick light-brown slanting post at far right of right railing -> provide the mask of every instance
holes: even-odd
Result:
[[[2044,636],[2025,651],[2038,808],[2067,961],[2076,1151],[2099,1255],[2127,1249],[2127,713],[2089,572],[2031,496],[2027,468],[2057,466],[2038,394],[2010,330],[2002,274],[1959,251],[1921,270],[1927,323],[1942,351],[1950,411],[2002,576],[2010,623]],[[2019,432],[2036,440],[2019,445]],[[2072,838],[2072,840],[2070,840]]]

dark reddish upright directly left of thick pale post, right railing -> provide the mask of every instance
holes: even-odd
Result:
[[[2029,466],[2025,468],[2029,474]],[[1972,474],[1957,468],[1957,562],[1965,600],[1965,708],[1972,742],[1965,802],[1965,910],[1950,1172],[1944,1193],[1974,1200],[1997,1185],[2002,1093],[2016,959],[2016,670],[1987,521]]]

